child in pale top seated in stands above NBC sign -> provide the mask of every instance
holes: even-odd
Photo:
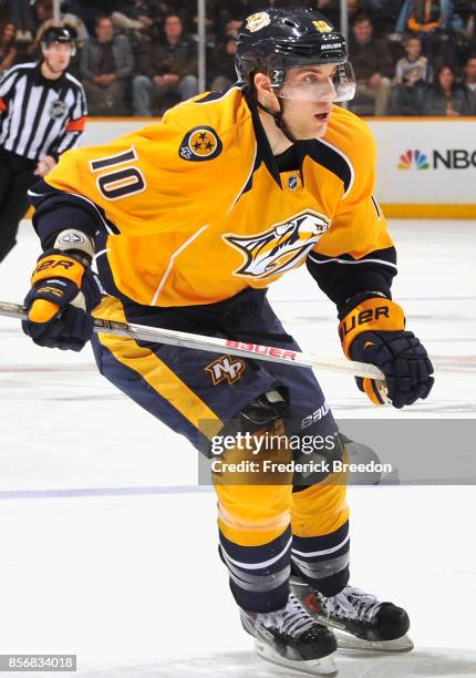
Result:
[[[430,64],[422,55],[422,41],[410,37],[405,41],[406,56],[399,59],[392,90],[394,115],[421,115],[430,80]]]

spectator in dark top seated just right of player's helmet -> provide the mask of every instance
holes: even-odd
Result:
[[[362,109],[365,109],[365,100],[370,100],[372,103],[370,114],[386,115],[393,62],[386,42],[374,38],[370,17],[360,14],[354,19],[349,53],[356,78],[356,94],[351,102],[352,111],[358,114],[366,113]]]

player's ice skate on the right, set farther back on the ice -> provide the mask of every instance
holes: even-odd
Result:
[[[413,643],[406,635],[408,615],[393,603],[353,586],[327,598],[299,577],[291,588],[314,619],[332,628],[340,649],[407,653]]]

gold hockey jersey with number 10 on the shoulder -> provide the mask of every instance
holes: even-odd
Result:
[[[232,88],[64,153],[45,181],[94,206],[110,294],[146,306],[213,304],[267,287],[308,257],[358,263],[392,248],[372,197],[366,125],[334,106],[325,136],[297,153],[299,167],[279,172],[257,111]]]

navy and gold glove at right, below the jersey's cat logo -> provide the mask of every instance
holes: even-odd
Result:
[[[382,297],[361,301],[342,318],[339,333],[348,358],[375,364],[384,373],[394,408],[428,396],[434,382],[432,362],[420,340],[405,330],[397,304]],[[374,404],[384,404],[375,380],[358,377],[356,382]]]

